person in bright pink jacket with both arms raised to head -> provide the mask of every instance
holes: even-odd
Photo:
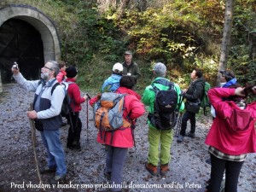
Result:
[[[211,154],[211,179],[207,192],[219,192],[225,171],[225,192],[236,192],[241,166],[248,153],[256,152],[256,131],[254,127],[256,119],[256,102],[247,104],[244,99],[247,93],[256,95],[256,85],[236,89],[214,88],[208,91],[208,96],[217,117],[212,123],[206,143]],[[223,98],[228,98],[224,101]],[[245,122],[241,116],[233,116],[237,113],[248,113],[248,126],[238,129],[241,122]],[[232,121],[232,117],[236,117]],[[237,122],[235,122],[238,119]]]

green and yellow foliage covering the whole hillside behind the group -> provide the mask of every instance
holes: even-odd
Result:
[[[3,0],[0,4],[20,2]],[[54,20],[61,40],[61,59],[79,67],[78,83],[84,89],[99,90],[113,63],[124,60],[125,49],[135,53],[133,58],[141,68],[143,77],[137,84],[140,93],[153,79],[156,61],[166,64],[167,78],[182,88],[189,84],[193,67],[200,67],[215,85],[225,1],[151,0],[139,10],[137,1],[125,6],[116,1],[116,6],[110,4],[100,12],[102,3],[107,2],[22,1]],[[236,1],[228,67],[242,83],[255,83],[255,13],[255,1]]]

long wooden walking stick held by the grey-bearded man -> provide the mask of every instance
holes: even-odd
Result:
[[[33,104],[32,103],[30,103],[29,110],[30,111],[33,110]],[[40,172],[39,172],[39,167],[38,167],[38,155],[37,155],[37,152],[36,152],[36,132],[35,132],[36,128],[35,128],[34,119],[29,118],[29,123],[30,123],[30,128],[31,128],[32,148],[33,148],[33,154],[34,154],[34,159],[35,159],[37,173],[38,173],[38,179],[39,179],[39,182],[43,185],[43,189],[45,191],[44,184],[42,182],[41,175],[40,175]]]

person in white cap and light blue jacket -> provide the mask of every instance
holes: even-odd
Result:
[[[123,66],[117,62],[113,65],[112,75],[104,81],[102,92],[115,92],[120,86],[119,81],[122,78]]]

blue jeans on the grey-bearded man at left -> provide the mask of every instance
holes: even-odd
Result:
[[[56,175],[63,176],[67,173],[65,154],[61,144],[60,131],[40,131],[44,147],[47,150],[47,163],[49,167],[56,167]]]

